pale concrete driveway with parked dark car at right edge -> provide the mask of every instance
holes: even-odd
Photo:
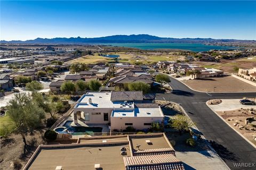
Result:
[[[242,105],[241,99],[221,99],[222,103],[218,105],[209,105],[214,111],[233,111],[239,108],[256,108],[256,105]]]

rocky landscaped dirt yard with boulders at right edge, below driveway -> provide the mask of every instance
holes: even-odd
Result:
[[[244,135],[245,138],[250,140],[256,146],[256,140],[253,136],[256,136],[256,128],[245,124],[247,117],[256,117],[256,109],[236,109],[234,111],[217,112],[223,117],[228,124],[230,124],[235,130]],[[256,139],[256,138],[255,138]]]

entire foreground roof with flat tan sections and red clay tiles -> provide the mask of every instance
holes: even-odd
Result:
[[[127,154],[124,156],[121,155],[123,147]],[[133,165],[158,167],[177,162],[183,167],[174,152],[164,133],[85,137],[79,138],[77,144],[39,146],[24,169],[48,170],[62,166],[66,170],[91,170],[95,169],[95,164],[100,164],[105,170],[123,170]]]

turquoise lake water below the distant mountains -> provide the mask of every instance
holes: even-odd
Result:
[[[114,43],[104,44],[118,47],[131,47],[138,49],[154,50],[154,49],[182,49],[191,50],[193,52],[205,52],[211,49],[238,49],[238,47],[231,46],[210,46],[204,44],[193,44],[193,43]]]

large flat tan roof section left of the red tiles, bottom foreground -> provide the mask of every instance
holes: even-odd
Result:
[[[94,145],[92,147],[66,147],[43,148],[38,152],[34,162],[28,169],[55,169],[62,166],[63,169],[81,170],[95,169],[94,164],[100,164],[103,169],[125,169],[120,148],[129,148],[126,143],[115,145]],[[130,156],[130,152],[127,151]]]

